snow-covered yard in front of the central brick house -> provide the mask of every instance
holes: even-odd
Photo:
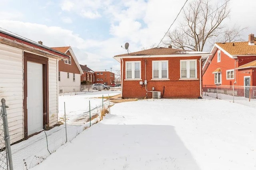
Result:
[[[118,103],[32,169],[256,170],[255,111],[210,97]]]

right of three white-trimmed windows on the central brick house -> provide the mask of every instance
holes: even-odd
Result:
[[[180,78],[197,78],[196,60],[180,60]]]

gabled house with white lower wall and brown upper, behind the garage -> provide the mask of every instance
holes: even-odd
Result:
[[[58,62],[58,87],[60,93],[80,91],[81,75],[84,74],[70,46],[52,47],[52,49],[67,54],[68,60]]]

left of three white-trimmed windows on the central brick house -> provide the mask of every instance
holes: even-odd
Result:
[[[126,62],[126,79],[140,79],[140,61]]]

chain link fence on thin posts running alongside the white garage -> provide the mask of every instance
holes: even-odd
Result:
[[[12,130],[11,140],[22,139],[12,144],[12,162],[14,170],[28,170],[44,161],[50,154],[55,152],[66,142],[72,141],[83,130],[100,121],[100,114],[103,109],[109,108],[109,100],[106,97],[98,99],[84,110],[84,113],[77,115],[74,120],[68,117],[60,117],[59,123],[50,128],[39,128],[35,134],[28,136],[24,132]],[[63,105],[65,106],[65,104]],[[65,115],[66,115],[66,109]],[[2,117],[1,117],[2,118]],[[0,170],[8,170],[6,161],[3,124],[0,118],[1,152]],[[68,120],[67,122],[65,120]],[[24,136],[28,136],[24,138]]]

